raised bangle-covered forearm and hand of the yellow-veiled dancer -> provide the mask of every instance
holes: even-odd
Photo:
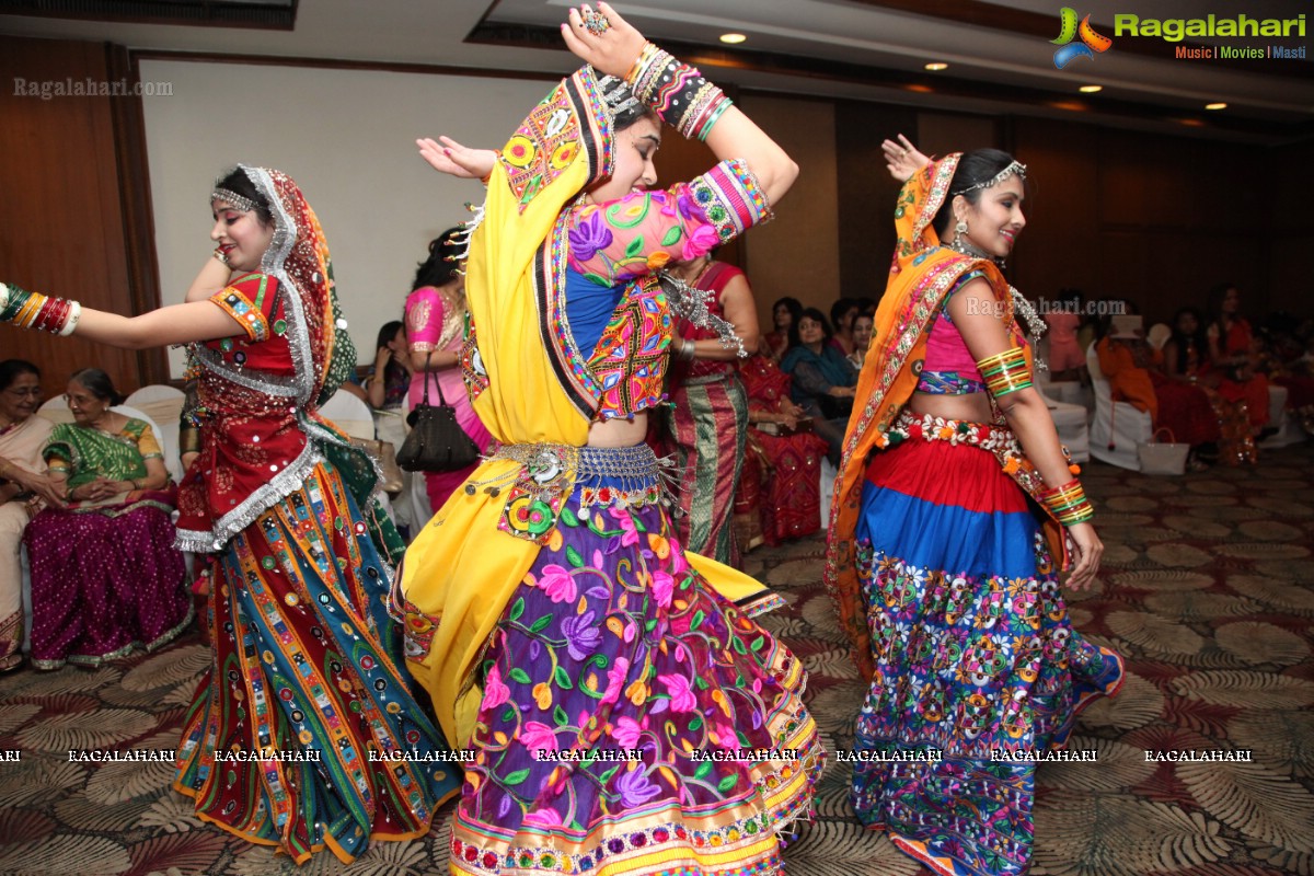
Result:
[[[696,70],[649,43],[606,3],[599,3],[597,12],[587,5],[582,12],[572,8],[569,21],[561,25],[561,37],[566,47],[594,70],[629,83],[636,97],[648,102],[662,121],[686,137],[702,137],[716,158],[741,159],[757,176],[769,202],[778,202],[794,185],[799,167],[775,141],[728,100],[720,99],[715,85],[699,85],[702,79]],[[661,96],[656,93],[656,83],[662,75],[685,84],[678,95],[694,104],[687,112],[674,102],[661,102],[670,96],[665,85]],[[696,113],[698,101],[707,113]]]

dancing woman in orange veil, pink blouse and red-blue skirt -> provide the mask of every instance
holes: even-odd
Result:
[[[1102,546],[996,264],[1025,225],[1026,168],[996,150],[934,163],[907,139],[884,150],[905,180],[899,244],[825,583],[871,684],[857,747],[896,756],[854,767],[853,804],[936,873],[1014,876],[1033,835],[1035,767],[1021,758],[1062,747],[1081,707],[1122,682],[1122,661],[1072,630],[1054,567],[1071,546],[1068,586],[1085,586]]]

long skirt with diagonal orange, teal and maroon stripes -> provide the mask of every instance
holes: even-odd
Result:
[[[428,833],[460,768],[410,695],[390,573],[321,464],[212,558],[213,666],[173,787],[196,813],[297,863]]]

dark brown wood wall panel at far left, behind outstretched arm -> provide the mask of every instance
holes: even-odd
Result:
[[[133,113],[114,102],[139,99],[42,100],[17,95],[14,87],[16,79],[110,83],[124,74],[125,59],[122,49],[101,43],[0,38],[5,85],[0,89],[0,278],[72,297],[88,307],[131,314],[124,218],[129,198],[120,177],[116,113],[121,123]],[[62,393],[68,374],[88,365],[104,368],[125,393],[155,377],[147,370],[147,381],[142,380],[150,357],[9,326],[0,326],[0,356],[35,362],[47,395]]]

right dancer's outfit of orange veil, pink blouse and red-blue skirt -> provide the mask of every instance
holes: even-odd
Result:
[[[962,284],[989,284],[1025,348],[997,267],[941,247],[932,229],[958,158],[916,173],[899,198],[825,583],[870,682],[855,728],[858,818],[937,875],[1021,876],[1037,762],[1066,746],[1083,707],[1118,691],[1123,667],[1072,629],[1064,532],[1034,500],[1045,485],[1013,432],[908,411],[943,361],[932,330],[954,331],[941,314]],[[951,383],[921,389],[972,389]]]

